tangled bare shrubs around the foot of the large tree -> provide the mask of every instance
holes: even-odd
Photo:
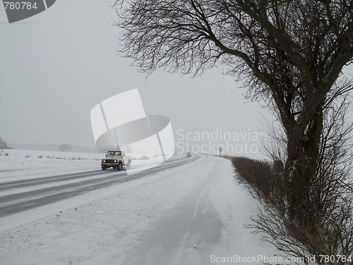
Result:
[[[339,88],[352,86],[340,83]],[[334,89],[335,90],[335,89]],[[274,174],[270,185],[262,185],[263,174],[258,179],[250,179],[246,187],[258,201],[263,211],[254,219],[255,224],[249,227],[257,232],[265,232],[271,236],[272,242],[279,249],[292,253],[297,257],[308,257],[308,254],[342,255],[353,254],[353,193],[352,193],[352,128],[345,114],[348,111],[348,95],[330,102],[323,112],[323,134],[319,143],[319,160],[316,174],[310,181],[310,191],[301,197],[297,207],[306,209],[293,216],[287,207],[287,179],[277,158],[287,155],[285,135],[273,128],[267,145],[270,155],[274,155]],[[278,155],[277,155],[278,154]],[[265,170],[263,170],[265,172]],[[275,176],[273,176],[275,175]],[[241,182],[248,182],[248,177],[239,177]],[[255,187],[253,187],[255,186]],[[268,188],[270,187],[270,189]],[[308,260],[306,260],[308,261]],[[351,264],[351,259],[316,260],[319,264]]]

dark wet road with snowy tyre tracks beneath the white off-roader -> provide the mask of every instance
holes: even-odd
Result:
[[[122,183],[154,174],[170,167],[177,167],[198,159],[174,158],[167,160],[157,168],[145,170],[128,177],[125,170],[92,170],[48,177],[28,177],[26,179],[0,182],[0,218],[19,213],[38,206],[52,204],[56,201],[78,196],[95,189],[109,187],[112,184]],[[143,165],[136,165],[139,167]]]

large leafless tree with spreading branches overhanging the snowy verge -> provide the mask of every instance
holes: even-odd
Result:
[[[325,192],[333,196],[338,189],[324,184],[321,190],[325,177],[335,175],[326,174],[328,168],[337,169],[323,163],[340,162],[335,150],[345,142],[327,134],[330,127],[340,128],[330,110],[337,104],[341,113],[345,103],[339,99],[353,89],[340,78],[353,61],[352,1],[126,0],[115,7],[121,52],[140,71],[196,76],[221,65],[244,81],[248,98],[265,101],[284,132],[279,216],[321,230],[327,216],[312,215],[320,212]]]

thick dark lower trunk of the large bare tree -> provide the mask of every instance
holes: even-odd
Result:
[[[298,223],[317,227],[319,202],[313,200],[315,191],[312,180],[316,177],[319,160],[319,146],[323,130],[322,106],[318,107],[303,134],[292,131],[288,136],[288,158],[285,164],[287,179],[287,205],[289,216]]]

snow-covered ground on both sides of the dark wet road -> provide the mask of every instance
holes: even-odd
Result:
[[[47,161],[55,172],[100,166],[95,160],[100,154],[70,155],[57,159],[61,162],[21,157],[20,165],[6,165],[11,155],[1,155],[0,177],[8,179],[16,166],[16,172],[23,172],[23,166],[33,175],[48,175]],[[258,204],[233,175],[229,160],[201,156],[66,203],[0,218],[4,228],[11,218],[18,223],[0,232],[0,263],[204,265],[263,264],[268,259],[294,264],[244,228]]]

